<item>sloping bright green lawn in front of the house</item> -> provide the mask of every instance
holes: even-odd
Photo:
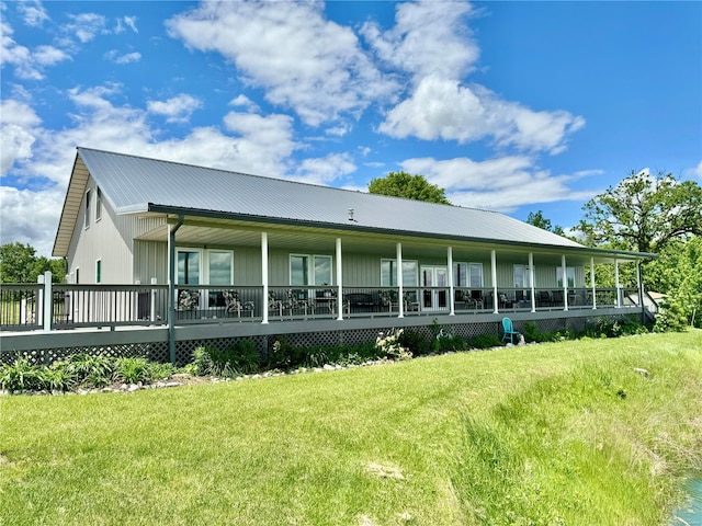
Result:
[[[0,524],[666,524],[701,407],[700,330],[2,397]]]

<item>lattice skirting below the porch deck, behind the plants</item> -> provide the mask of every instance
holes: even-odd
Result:
[[[557,315],[557,316],[556,316]],[[472,339],[480,334],[501,334],[501,320],[512,319],[514,328],[524,332],[534,323],[540,332],[559,330],[582,331],[588,322],[607,318],[641,316],[639,309],[608,308],[597,310],[536,311],[471,315],[415,316],[405,318],[351,318],[346,320],[310,319],[275,323],[220,322],[176,327],[176,362],[181,366],[192,361],[193,351],[202,345],[226,348],[241,340],[253,340],[261,356],[265,356],[276,339],[298,347],[316,345],[353,345],[375,341],[378,332],[412,329],[431,335],[437,322],[453,334]],[[168,328],[117,327],[107,329],[72,329],[66,331],[31,331],[0,334],[0,363],[11,363],[26,356],[34,363],[50,364],[77,353],[110,356],[143,356],[154,362],[169,362]]]

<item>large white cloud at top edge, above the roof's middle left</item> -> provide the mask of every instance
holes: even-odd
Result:
[[[356,117],[396,89],[355,34],[325,20],[322,9],[318,2],[203,2],[167,26],[191,48],[220,53],[269,102],[318,126]]]

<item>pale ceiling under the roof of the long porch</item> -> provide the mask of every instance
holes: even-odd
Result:
[[[170,225],[160,226],[138,239],[167,242],[169,228],[171,228]],[[526,263],[529,252],[534,253],[535,264],[558,265],[563,253],[566,254],[569,266],[587,265],[590,263],[590,256],[595,256],[596,263],[614,262],[613,254],[592,253],[582,250],[574,251],[555,247],[496,245],[488,242],[418,239],[373,232],[353,232],[341,229],[319,229],[218,219],[185,219],[185,222],[178,229],[176,239],[180,247],[260,247],[262,231],[268,232],[269,249],[303,253],[333,253],[336,239],[341,238],[341,249],[343,251],[385,256],[395,254],[396,243],[399,241],[403,243],[403,253],[408,259],[445,258],[446,248],[451,244],[453,247],[454,261],[489,260],[490,251],[496,249],[499,260],[514,263]],[[620,261],[625,260],[625,258],[619,259]],[[629,259],[631,260],[631,254]]]

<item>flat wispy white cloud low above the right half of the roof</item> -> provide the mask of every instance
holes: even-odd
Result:
[[[600,172],[551,175],[533,162],[529,156],[507,156],[486,161],[417,158],[400,164],[405,171],[421,173],[444,188],[449,201],[460,206],[509,213],[525,204],[581,201],[595,195],[596,191],[574,191],[569,184]]]

